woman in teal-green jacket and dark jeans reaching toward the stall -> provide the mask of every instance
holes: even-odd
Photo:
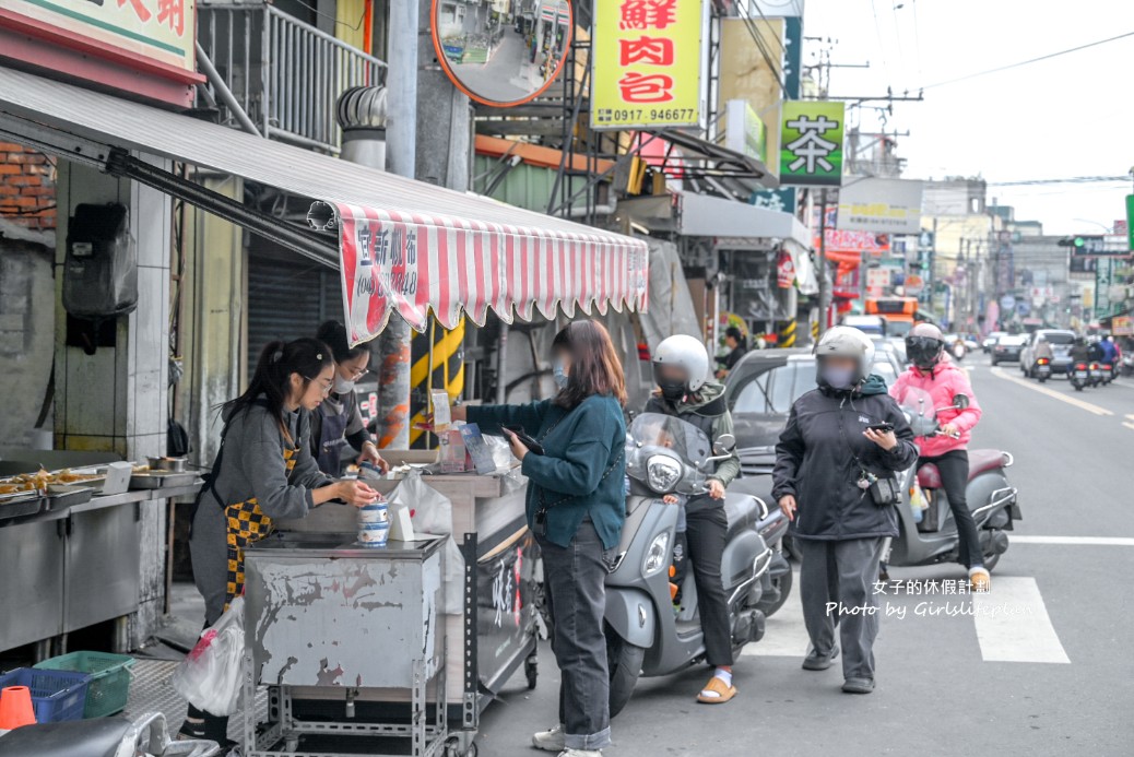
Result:
[[[528,478],[527,524],[543,569],[559,664],[559,725],[536,733],[539,749],[601,757],[610,746],[610,678],[602,632],[608,564],[626,511],[626,383],[610,334],[576,321],[551,345],[559,393],[530,405],[454,408],[489,434],[503,433]],[[508,427],[543,446],[530,451]]]

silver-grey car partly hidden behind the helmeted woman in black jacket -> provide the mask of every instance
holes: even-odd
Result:
[[[904,369],[894,352],[875,350],[871,372],[888,386]],[[814,388],[815,357],[810,349],[748,352],[728,373],[725,392],[744,475],[771,473],[792,405]]]

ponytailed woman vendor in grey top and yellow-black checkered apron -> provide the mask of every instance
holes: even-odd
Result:
[[[270,342],[247,391],[226,402],[221,446],[192,518],[193,579],[205,599],[205,626],[244,593],[244,548],[272,520],[303,518],[331,500],[370,504],[378,492],[358,480],[335,482],[311,454],[311,415],[327,399],[335,362],[314,339]],[[228,718],[189,707],[181,734],[226,743]]]

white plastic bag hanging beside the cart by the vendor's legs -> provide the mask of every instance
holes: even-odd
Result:
[[[243,658],[244,597],[236,597],[174,671],[174,690],[206,713],[232,715],[240,705]]]

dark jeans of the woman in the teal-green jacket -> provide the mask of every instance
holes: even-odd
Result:
[[[610,674],[602,632],[608,572],[602,541],[594,525],[584,520],[567,548],[544,538],[539,542],[567,748],[604,749],[610,746]]]

